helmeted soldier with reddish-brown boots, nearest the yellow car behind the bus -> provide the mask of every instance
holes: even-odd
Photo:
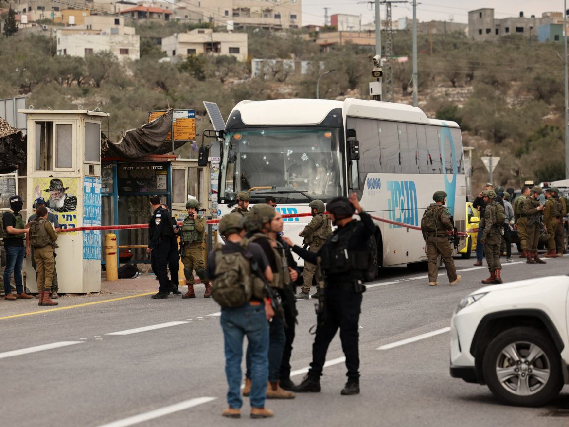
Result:
[[[486,210],[481,221],[482,243],[490,277],[483,280],[483,283],[502,283],[500,275],[502,264],[500,263],[500,243],[502,241],[502,229],[504,228],[505,212],[501,204],[496,203],[496,192],[494,190],[484,190],[482,192]],[[500,214],[501,212],[501,214]]]

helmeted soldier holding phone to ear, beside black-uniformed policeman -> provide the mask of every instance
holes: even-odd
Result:
[[[188,291],[182,298],[195,298],[193,292],[193,270],[196,270],[197,277],[205,285],[204,298],[212,296],[211,285],[205,278],[204,269],[204,232],[207,222],[205,217],[199,215],[201,204],[196,199],[189,199],[185,203],[188,210],[188,217],[182,223],[182,262],[184,263],[185,282],[188,285]]]

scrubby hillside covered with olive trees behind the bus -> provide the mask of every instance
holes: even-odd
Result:
[[[2,19],[5,19],[3,17]],[[162,36],[188,25],[139,24],[141,59],[118,62],[111,54],[76,58],[56,56],[55,40],[22,31],[0,36],[0,98],[26,96],[35,109],[100,108],[110,113],[104,132],[119,132],[147,120],[149,110],[195,108],[197,131],[209,127],[202,101],[215,101],[228,116],[244,99],[315,97],[323,70],[336,71],[320,81],[320,97],[368,98],[373,49],[318,45],[300,32],[249,32],[249,61],[229,56],[188,56],[177,63],[159,61]],[[193,28],[193,27],[192,27]],[[385,38],[382,38],[385,40]],[[411,104],[411,34],[398,32],[395,54],[409,56],[393,65],[395,101]],[[487,153],[501,157],[494,182],[519,187],[525,179],[564,178],[563,55],[561,43],[508,36],[496,42],[472,42],[461,34],[419,35],[419,106],[430,117],[455,120],[473,153],[473,186],[488,180],[480,161]],[[251,78],[250,60],[311,61],[305,75],[282,65]],[[189,145],[181,155],[195,155]]]

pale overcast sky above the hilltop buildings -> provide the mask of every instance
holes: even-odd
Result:
[[[323,25],[324,7],[328,7],[328,16],[337,13],[362,15],[362,24],[375,20],[375,6],[368,4],[366,0],[302,0],[302,24]],[[497,19],[517,17],[520,11],[523,11],[525,17],[541,17],[543,12],[563,11],[563,0],[417,0],[417,19],[419,22],[453,20],[468,23],[468,11],[484,7],[493,8],[494,17]],[[410,1],[394,3],[391,5],[391,11],[394,20],[413,18]],[[385,5],[381,6],[381,19],[385,19]]]

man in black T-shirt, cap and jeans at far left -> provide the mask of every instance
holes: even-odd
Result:
[[[10,210],[2,215],[4,232],[4,250],[6,251],[6,270],[4,271],[4,299],[15,301],[16,299],[33,298],[24,292],[22,283],[22,264],[26,248],[24,245],[26,229],[20,211],[24,206],[24,200],[18,195],[11,196]],[[14,273],[16,282],[16,294],[10,289],[10,277]]]

